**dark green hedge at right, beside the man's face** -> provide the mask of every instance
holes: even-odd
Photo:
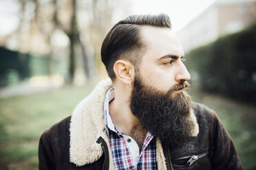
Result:
[[[256,101],[256,23],[186,56],[189,71],[198,73],[204,90]]]

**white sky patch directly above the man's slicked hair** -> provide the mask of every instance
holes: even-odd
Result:
[[[132,0],[134,14],[166,13],[171,18],[174,31],[184,27],[215,0]]]

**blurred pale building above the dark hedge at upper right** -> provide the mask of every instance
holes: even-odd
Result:
[[[184,51],[238,32],[256,21],[256,0],[217,0],[177,32]]]

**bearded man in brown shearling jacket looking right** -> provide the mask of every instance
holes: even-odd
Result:
[[[242,169],[215,112],[184,92],[190,75],[167,15],[120,21],[101,58],[110,79],[43,133],[39,169]]]

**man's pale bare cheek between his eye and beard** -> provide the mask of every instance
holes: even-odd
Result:
[[[176,84],[173,71],[164,70],[160,66],[144,66],[140,73],[143,81],[159,90],[169,90]]]

